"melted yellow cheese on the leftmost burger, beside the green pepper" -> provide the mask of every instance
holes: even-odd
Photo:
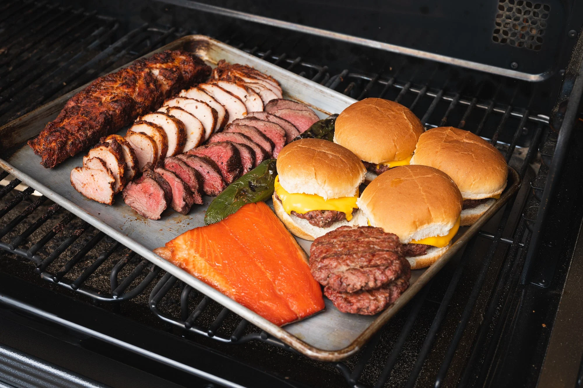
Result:
[[[278,193],[279,199],[282,200],[283,209],[287,214],[290,214],[291,211],[304,214],[313,210],[335,210],[345,213],[346,220],[350,221],[352,219],[352,209],[358,208],[356,205],[356,200],[359,198],[358,190],[356,190],[356,195],[354,195],[354,197],[330,198],[324,200],[324,198],[315,194],[288,193],[285,188],[279,184],[279,176],[275,177],[274,186],[275,192]]]

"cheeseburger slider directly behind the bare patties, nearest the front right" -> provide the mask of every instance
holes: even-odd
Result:
[[[382,173],[356,202],[370,226],[394,233],[411,269],[430,266],[459,229],[462,195],[445,173],[400,166]]]

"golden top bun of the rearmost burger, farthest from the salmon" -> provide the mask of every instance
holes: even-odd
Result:
[[[354,102],[336,118],[334,141],[370,163],[399,161],[413,154],[421,121],[405,106],[382,98]]]

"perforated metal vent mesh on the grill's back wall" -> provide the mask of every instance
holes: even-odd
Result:
[[[540,50],[550,5],[525,0],[499,0],[492,40],[500,44]]]

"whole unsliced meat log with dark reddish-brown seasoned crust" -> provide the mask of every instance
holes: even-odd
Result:
[[[53,168],[139,115],[156,110],[182,88],[205,81],[209,74],[209,66],[182,50],[136,60],[74,95],[29,145],[43,158],[44,167]]]

